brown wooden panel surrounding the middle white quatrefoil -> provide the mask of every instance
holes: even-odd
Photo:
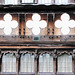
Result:
[[[33,14],[35,14],[35,13],[33,13]],[[32,35],[33,36],[32,28],[28,29],[27,26],[26,26],[26,22],[28,20],[32,20],[33,14],[26,14],[26,16],[25,16],[25,35]],[[41,14],[41,13],[38,13],[38,14],[41,17],[40,21],[44,20],[44,21],[47,22],[47,14]],[[40,35],[47,35],[47,27],[46,28],[42,28],[42,29],[40,28],[40,34],[39,34],[39,36]]]

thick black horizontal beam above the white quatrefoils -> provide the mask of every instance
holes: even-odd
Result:
[[[75,12],[75,4],[72,5],[0,5],[0,13],[5,12]]]

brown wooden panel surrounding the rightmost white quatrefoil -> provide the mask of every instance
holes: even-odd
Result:
[[[61,15],[62,14],[55,14],[55,21],[54,21],[54,23],[57,20],[61,20]],[[74,18],[75,14],[69,14],[69,16],[70,16],[70,20],[75,20],[75,18]],[[65,23],[65,25],[66,25],[66,23]],[[63,35],[62,32],[61,32],[61,28],[57,28],[57,27],[55,27],[55,25],[54,25],[54,35]],[[70,28],[70,32],[67,35],[75,35],[75,28]]]

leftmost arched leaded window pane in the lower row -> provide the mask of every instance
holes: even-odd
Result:
[[[13,54],[3,55],[2,72],[16,72],[16,56]]]

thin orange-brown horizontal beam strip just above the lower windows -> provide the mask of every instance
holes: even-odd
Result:
[[[44,47],[44,46],[0,46],[1,49],[75,49],[75,47],[71,46],[49,46],[49,47]]]

